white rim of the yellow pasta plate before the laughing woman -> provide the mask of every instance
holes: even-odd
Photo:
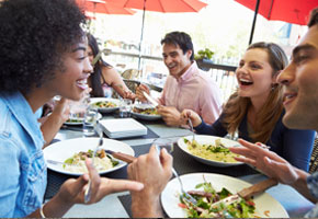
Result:
[[[189,150],[188,150],[188,145],[184,142],[184,138],[186,138],[188,140],[192,141],[192,136],[185,136],[182,137],[178,140],[178,146],[181,150],[183,150],[185,153],[192,155],[194,159],[196,159],[197,161],[208,164],[208,165],[213,165],[213,166],[231,166],[231,165],[240,165],[242,164],[242,162],[235,162],[235,163],[226,163],[226,162],[222,162],[222,161],[213,161],[213,160],[208,160],[208,159],[204,159],[204,158],[200,158],[197,155],[192,154]],[[226,138],[220,138],[217,136],[205,136],[205,135],[195,135],[195,140],[198,143],[213,143],[215,142],[216,139],[220,139],[220,142],[225,146],[225,147],[235,147],[238,146],[239,143],[237,141],[234,140],[229,140]]]

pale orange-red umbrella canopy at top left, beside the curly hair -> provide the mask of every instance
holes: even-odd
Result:
[[[125,9],[117,4],[109,3],[103,0],[76,0],[77,4],[88,12],[104,14],[127,14],[136,13],[132,9]]]

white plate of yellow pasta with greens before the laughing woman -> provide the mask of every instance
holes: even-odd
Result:
[[[235,160],[239,157],[229,151],[229,147],[239,147],[237,141],[216,136],[195,135],[182,137],[178,140],[178,146],[185,153],[192,155],[197,161],[214,166],[240,165],[242,162]]]

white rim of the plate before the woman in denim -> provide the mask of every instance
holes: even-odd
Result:
[[[115,152],[123,152],[129,155],[135,155],[135,151],[127,143],[106,138],[104,138],[103,141],[104,142],[102,148],[104,149],[110,149]],[[78,153],[80,151],[88,151],[89,149],[94,150],[94,148],[98,146],[98,142],[99,138],[73,138],[58,141],[56,143],[46,147],[43,150],[44,159],[64,162],[66,159],[71,158],[75,153]],[[112,169],[101,171],[100,174],[116,171],[121,168],[124,168],[125,165],[126,165],[125,162],[120,162],[116,166]],[[67,171],[60,164],[47,163],[47,168],[53,171],[69,175],[82,175],[82,173]]]

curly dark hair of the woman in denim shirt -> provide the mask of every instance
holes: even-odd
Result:
[[[63,70],[61,56],[81,42],[84,15],[73,0],[0,2],[0,92],[30,92]]]

